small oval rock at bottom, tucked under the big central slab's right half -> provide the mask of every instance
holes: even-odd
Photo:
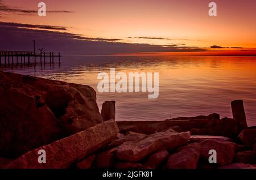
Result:
[[[157,168],[160,164],[166,160],[167,156],[169,155],[167,150],[162,150],[153,153],[150,157],[148,157],[148,160],[144,165],[150,166],[151,168],[155,169]]]

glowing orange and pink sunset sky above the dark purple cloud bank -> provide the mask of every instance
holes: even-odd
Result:
[[[236,53],[238,51],[245,53],[245,50],[254,51],[256,48],[255,0],[213,1],[217,3],[217,16],[214,17],[208,15],[208,4],[211,1],[205,0],[44,0],[43,2],[47,5],[46,17],[40,17],[36,13],[39,1],[0,0],[0,22],[63,27],[64,30],[61,31],[44,30],[68,32],[88,38],[85,39],[88,41],[106,41],[112,44],[117,42],[117,45],[123,42],[158,45],[158,48],[160,46],[163,48],[163,52],[168,52],[168,49],[164,49],[168,46],[174,49],[209,50],[210,46],[217,45],[228,47],[229,51],[234,50]],[[6,26],[9,25],[2,24],[2,27],[6,28]],[[243,51],[231,47],[242,47]],[[155,50],[151,46],[148,52]],[[220,50],[223,52],[224,49]],[[158,49],[156,52],[161,50]],[[114,53],[139,52],[114,51]]]

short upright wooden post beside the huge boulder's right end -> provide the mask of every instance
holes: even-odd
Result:
[[[103,121],[115,119],[115,101],[105,101],[102,104],[101,117]]]

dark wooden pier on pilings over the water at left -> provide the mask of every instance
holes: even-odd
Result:
[[[53,52],[24,52],[24,51],[9,51],[0,50],[0,67],[14,66],[14,65],[36,65],[37,58],[40,65],[46,65],[46,59],[49,59],[50,65],[54,65],[54,59],[58,58],[60,65],[60,53],[54,54]]]

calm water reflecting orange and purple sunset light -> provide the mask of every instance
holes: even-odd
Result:
[[[148,93],[98,93],[99,72],[159,72],[159,97]],[[6,69],[34,75],[34,67]],[[36,76],[86,84],[97,102],[115,100],[117,121],[153,121],[219,113],[232,117],[230,102],[244,101],[247,121],[256,125],[256,57],[110,57],[64,56],[61,65],[36,66]]]

